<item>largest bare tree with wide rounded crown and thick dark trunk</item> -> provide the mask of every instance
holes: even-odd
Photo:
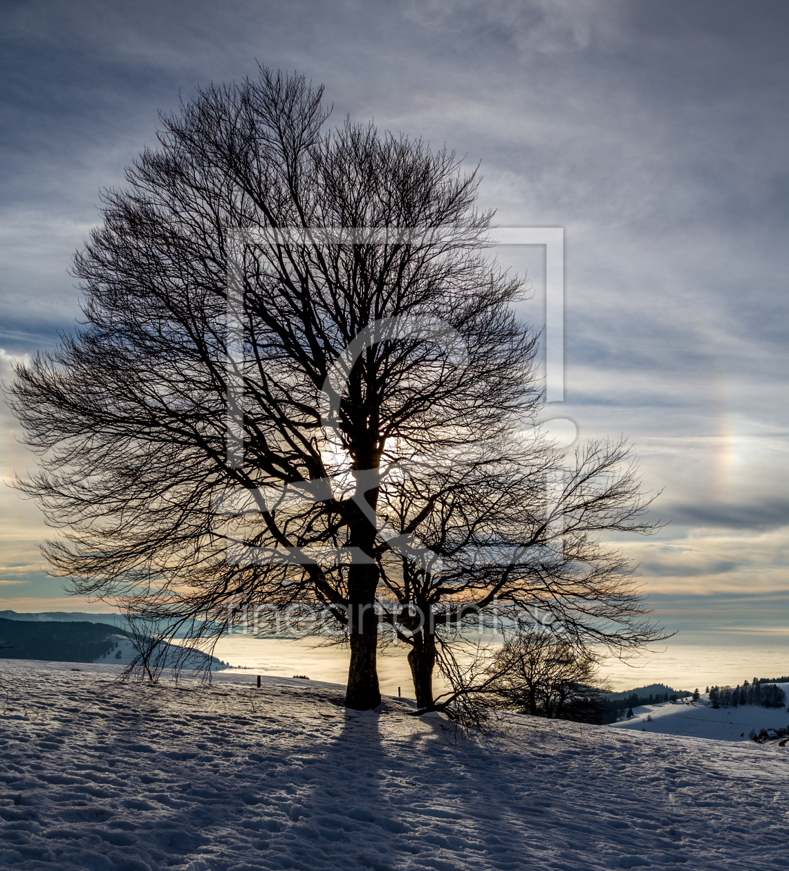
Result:
[[[411,547],[379,534],[381,470],[509,436],[540,389],[475,172],[373,125],[322,132],[321,95],[261,68],[163,116],[76,257],[83,323],[10,402],[73,591],[198,636],[325,607],[366,709],[382,564]]]

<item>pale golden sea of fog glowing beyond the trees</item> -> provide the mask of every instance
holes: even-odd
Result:
[[[405,645],[379,653],[378,674],[384,694],[395,696],[399,687],[403,696],[414,697],[407,653]],[[307,675],[334,684],[345,684],[347,678],[347,649],[316,646],[314,638],[285,640],[231,635],[219,640],[214,655],[234,669],[261,675],[286,678]],[[719,640],[708,643],[704,638],[694,638],[691,643],[670,638],[629,662],[606,659],[601,677],[620,692],[655,683],[677,690],[692,691],[699,687],[704,692],[708,685],[737,685],[754,677],[779,678],[787,673],[787,638],[753,638],[751,644],[745,643],[744,638],[737,638],[736,643]],[[440,692],[440,681],[436,692]]]

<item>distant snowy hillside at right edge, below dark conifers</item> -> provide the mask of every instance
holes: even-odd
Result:
[[[779,684],[789,698],[789,684]],[[671,705],[645,705],[633,708],[634,716],[611,724],[617,729],[637,729],[639,732],[661,735],[688,735],[721,741],[747,741],[752,729],[786,729],[789,711],[758,705],[713,708],[704,693],[698,702],[684,699]],[[651,720],[648,719],[651,717]]]

